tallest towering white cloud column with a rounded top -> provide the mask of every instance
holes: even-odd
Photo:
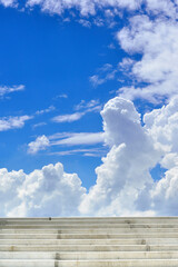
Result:
[[[90,215],[139,212],[137,199],[146,187],[154,185],[149,170],[160,154],[141,127],[131,101],[118,97],[111,99],[101,115],[106,142],[111,149],[96,169],[97,182],[80,205],[80,211]]]

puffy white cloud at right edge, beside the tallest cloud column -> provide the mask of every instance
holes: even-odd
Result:
[[[177,215],[178,198],[178,97],[169,105],[145,115],[146,128],[155,146],[161,149],[162,177],[150,191],[152,208],[159,215]]]

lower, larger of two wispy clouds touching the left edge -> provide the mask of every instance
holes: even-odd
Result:
[[[6,131],[10,129],[18,129],[24,126],[27,120],[32,119],[32,116],[17,116],[17,117],[4,117],[0,118],[0,131]]]

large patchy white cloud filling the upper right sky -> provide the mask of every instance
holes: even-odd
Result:
[[[148,86],[123,87],[119,95],[127,99],[145,98],[159,102],[177,95],[178,23],[176,20],[135,16],[130,24],[118,32],[121,48],[131,55],[141,55],[131,69],[137,82]]]

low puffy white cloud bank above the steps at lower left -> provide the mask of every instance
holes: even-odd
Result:
[[[86,192],[79,177],[66,174],[61,164],[29,175],[0,169],[0,216],[77,216]]]

